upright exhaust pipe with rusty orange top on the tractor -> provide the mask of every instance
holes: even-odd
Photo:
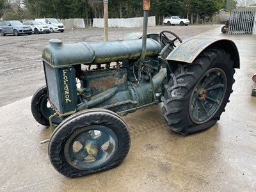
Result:
[[[146,56],[146,47],[147,47],[147,33],[148,33],[148,11],[150,9],[150,0],[143,0],[143,36],[142,36],[142,50],[141,56],[138,61],[136,61],[136,67],[140,67],[142,61]]]

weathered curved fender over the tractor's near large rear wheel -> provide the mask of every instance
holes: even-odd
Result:
[[[236,44],[227,39],[191,38],[174,49],[166,60],[193,63],[196,57],[208,47],[218,47],[228,52],[234,60],[234,68],[240,68],[240,58]]]

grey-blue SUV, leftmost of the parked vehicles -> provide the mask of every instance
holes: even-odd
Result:
[[[32,34],[32,29],[29,26],[25,26],[19,20],[9,20],[0,22],[0,35],[13,34],[19,36],[20,34]]]

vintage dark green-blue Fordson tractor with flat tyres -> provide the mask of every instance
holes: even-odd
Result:
[[[46,86],[33,96],[31,111],[52,130],[49,158],[67,177],[124,161],[130,134],[120,116],[163,102],[163,120],[187,135],[211,127],[225,111],[240,65],[234,42],[192,38],[176,47],[182,40],[170,31],[147,34],[149,0],[143,9],[143,35],[90,44],[52,39],[44,48]]]

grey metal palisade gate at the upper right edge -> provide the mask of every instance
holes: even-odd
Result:
[[[255,30],[255,9],[232,10],[229,21],[229,34],[253,34]]]

